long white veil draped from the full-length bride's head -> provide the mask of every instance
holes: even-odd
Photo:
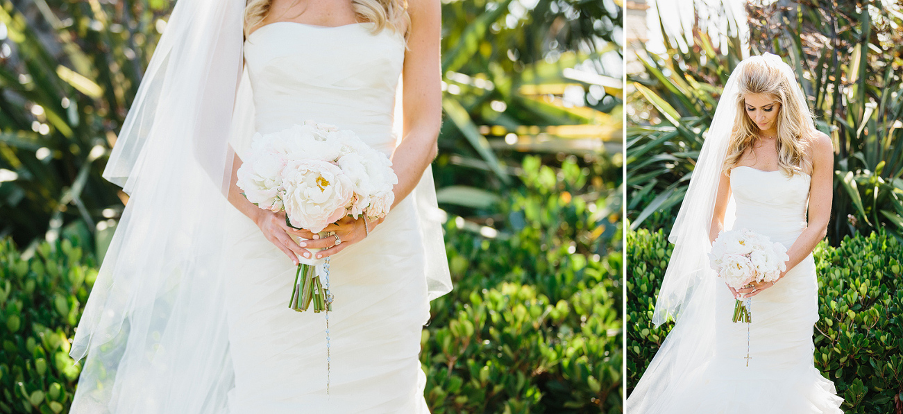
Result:
[[[703,369],[714,353],[714,298],[716,283],[721,280],[709,266],[708,253],[712,248],[709,228],[731,130],[738,115],[740,87],[737,74],[744,65],[753,62],[780,69],[781,75],[791,85],[796,85],[793,70],[770,53],[741,61],[728,79],[693,170],[690,187],[668,236],[668,241],[675,247],[656,299],[652,321],[657,327],[671,318],[675,320],[675,326],[628,396],[625,409],[631,414],[669,412],[668,401],[678,388],[673,386],[675,382]],[[799,107],[807,108],[802,89],[794,89],[796,93],[788,98],[796,99]],[[811,117],[807,119],[814,130]],[[731,227],[733,216],[731,201],[724,217],[725,228]]]

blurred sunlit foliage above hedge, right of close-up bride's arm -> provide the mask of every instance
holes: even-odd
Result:
[[[502,189],[526,153],[573,153],[586,164],[610,163],[603,146],[619,152],[621,140],[618,5],[448,2],[442,15],[447,120],[436,162],[444,170],[437,173],[439,187]],[[442,193],[440,201],[476,207],[470,198]]]

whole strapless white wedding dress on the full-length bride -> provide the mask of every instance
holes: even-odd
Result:
[[[750,167],[731,170],[733,228],[768,235],[789,248],[806,227],[811,178]],[[842,398],[815,369],[813,328],[818,282],[810,253],[774,287],[751,299],[752,322],[733,323],[735,299],[719,281],[715,352],[701,369],[678,379],[680,391],[660,407],[668,413],[835,414]],[[747,339],[749,338],[749,366]]]

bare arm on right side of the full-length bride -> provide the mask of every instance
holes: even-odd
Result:
[[[787,271],[803,262],[812,253],[818,242],[828,233],[828,220],[831,218],[831,202],[833,198],[834,149],[831,138],[824,133],[816,133],[812,145],[812,179],[809,188],[808,224],[803,233],[789,249],[787,255]],[[787,271],[781,273],[783,278]]]

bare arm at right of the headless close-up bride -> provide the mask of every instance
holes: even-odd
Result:
[[[411,193],[426,167],[433,162],[442,125],[440,3],[436,0],[409,0],[407,3],[411,32],[402,72],[404,129],[402,141],[392,156],[392,169],[398,176],[398,184],[393,189],[396,205]]]

